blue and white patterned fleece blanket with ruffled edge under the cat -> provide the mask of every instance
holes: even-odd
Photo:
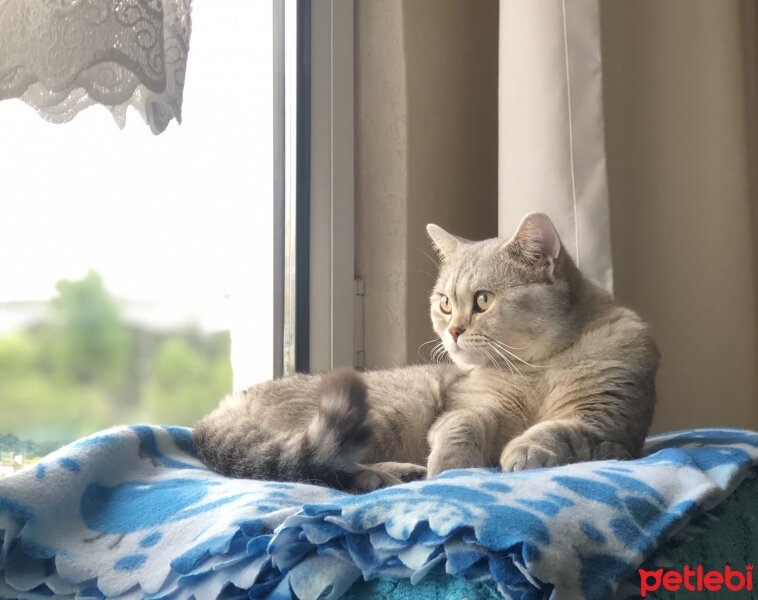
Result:
[[[505,597],[606,598],[748,476],[758,433],[656,436],[646,454],[351,496],[212,473],[188,429],[110,429],[0,481],[0,597],[336,599],[441,564]]]

